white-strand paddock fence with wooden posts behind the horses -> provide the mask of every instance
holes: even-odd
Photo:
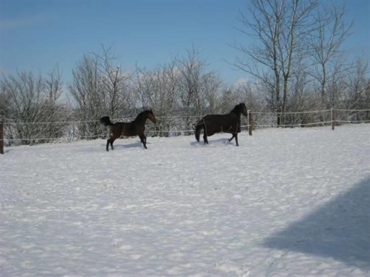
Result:
[[[194,134],[195,124],[202,116],[169,115],[156,116],[157,124],[146,124],[145,133],[149,136],[178,136]],[[129,122],[133,117],[112,119],[112,122]],[[277,124],[279,122],[279,124]],[[369,110],[329,109],[320,111],[285,112],[248,111],[247,117],[241,118],[241,129],[253,130],[267,127],[293,128],[335,126],[370,122]],[[49,142],[73,142],[106,138],[109,128],[97,120],[54,121],[54,122],[19,122],[12,119],[0,119],[0,153],[4,146],[34,145]]]

